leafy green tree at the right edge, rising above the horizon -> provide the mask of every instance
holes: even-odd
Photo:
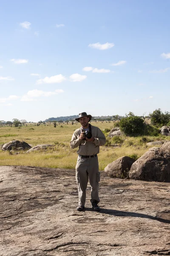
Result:
[[[150,113],[150,121],[152,125],[167,125],[170,122],[170,113],[165,111],[163,113],[161,109],[156,109],[153,113]]]

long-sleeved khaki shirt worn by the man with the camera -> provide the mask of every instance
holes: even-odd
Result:
[[[82,128],[77,129],[74,131],[74,134],[71,138],[70,146],[71,148],[77,148],[77,154],[84,155],[84,156],[91,156],[94,154],[99,153],[99,146],[105,145],[106,138],[102,131],[96,127],[91,125],[91,133],[92,136],[95,138],[94,142],[89,142],[86,140],[79,140],[79,136],[82,132]]]

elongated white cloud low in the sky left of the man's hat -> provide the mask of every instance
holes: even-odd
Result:
[[[25,101],[25,102],[28,102],[28,101],[33,101],[34,98],[38,98],[38,97],[42,97],[42,96],[45,96],[45,97],[49,97],[49,96],[52,96],[52,95],[57,95],[59,93],[63,93],[64,91],[62,89],[57,89],[55,90],[54,92],[46,92],[46,91],[42,91],[42,90],[30,90],[28,91],[28,93],[26,95],[23,95],[23,97],[21,98],[21,101]]]

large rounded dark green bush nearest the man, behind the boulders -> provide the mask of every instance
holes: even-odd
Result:
[[[126,136],[139,136],[144,134],[144,119],[139,116],[124,117],[119,122],[120,130]]]

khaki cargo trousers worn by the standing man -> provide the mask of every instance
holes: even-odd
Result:
[[[85,206],[86,189],[88,177],[91,185],[91,203],[99,203],[99,163],[98,157],[81,158],[78,157],[76,165],[76,181],[79,193],[79,205]]]

